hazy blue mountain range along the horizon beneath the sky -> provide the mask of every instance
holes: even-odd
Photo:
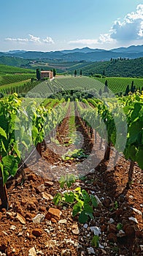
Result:
[[[108,61],[109,59],[143,57],[143,45],[131,45],[128,48],[116,48],[112,50],[76,48],[73,50],[57,50],[50,52],[9,50],[8,53],[0,53],[0,56],[13,56],[23,59],[55,59],[59,61]]]

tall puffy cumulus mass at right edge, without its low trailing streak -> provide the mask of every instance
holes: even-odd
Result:
[[[125,15],[123,21],[115,20],[110,37],[120,41],[133,41],[143,38],[143,4],[136,7],[136,12]]]

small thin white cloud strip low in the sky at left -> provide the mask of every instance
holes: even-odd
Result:
[[[40,37],[35,37],[32,34],[29,34],[28,36],[29,36],[29,38],[7,37],[7,38],[5,38],[5,41],[20,42],[20,43],[32,42],[34,44],[41,44],[41,43],[53,44],[54,43],[54,41],[51,37],[46,37],[45,39],[40,39]]]

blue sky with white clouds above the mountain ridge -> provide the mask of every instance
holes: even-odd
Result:
[[[1,0],[0,51],[143,45],[141,0]]]

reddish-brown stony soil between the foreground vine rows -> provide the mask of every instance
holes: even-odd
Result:
[[[68,117],[63,124],[58,128],[58,134],[60,132],[65,140]],[[84,143],[89,144],[89,131],[82,124],[80,132]],[[93,138],[90,142],[93,143]],[[93,148],[89,147],[92,152],[87,149],[89,160],[83,160],[82,166],[90,166],[90,154],[102,159],[104,147],[99,150],[99,144],[98,139]],[[33,159],[26,167],[23,185],[19,184],[20,177],[7,184],[9,210],[0,211],[0,255],[142,255],[142,170],[134,167],[134,182],[127,190],[129,162],[123,157],[120,157],[116,168],[109,168],[109,163],[103,161],[91,168],[73,188],[80,186],[86,189],[89,194],[96,195],[101,204],[94,209],[94,218],[87,225],[80,225],[77,217],[71,216],[70,206],[55,206],[53,203],[54,195],[61,191],[55,176],[76,173],[79,165],[78,161],[63,161],[63,149],[63,146],[51,143],[39,162]],[[34,223],[37,214],[42,214],[39,224]],[[121,232],[117,229],[119,224]],[[98,248],[91,244],[94,234],[90,227],[101,230]]]

